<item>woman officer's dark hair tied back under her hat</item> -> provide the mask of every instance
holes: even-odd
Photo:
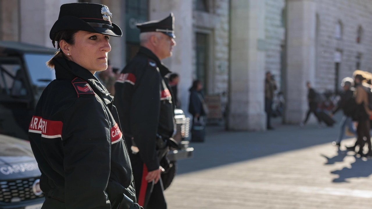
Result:
[[[64,40],[67,44],[73,45],[75,44],[75,33],[77,33],[79,30],[60,30],[58,31],[54,39],[52,40],[52,44],[55,48],[55,42],[57,42],[57,50],[60,49],[60,41]],[[47,62],[48,68],[54,68],[53,58],[55,57],[65,57],[62,50],[55,53],[55,55]]]

